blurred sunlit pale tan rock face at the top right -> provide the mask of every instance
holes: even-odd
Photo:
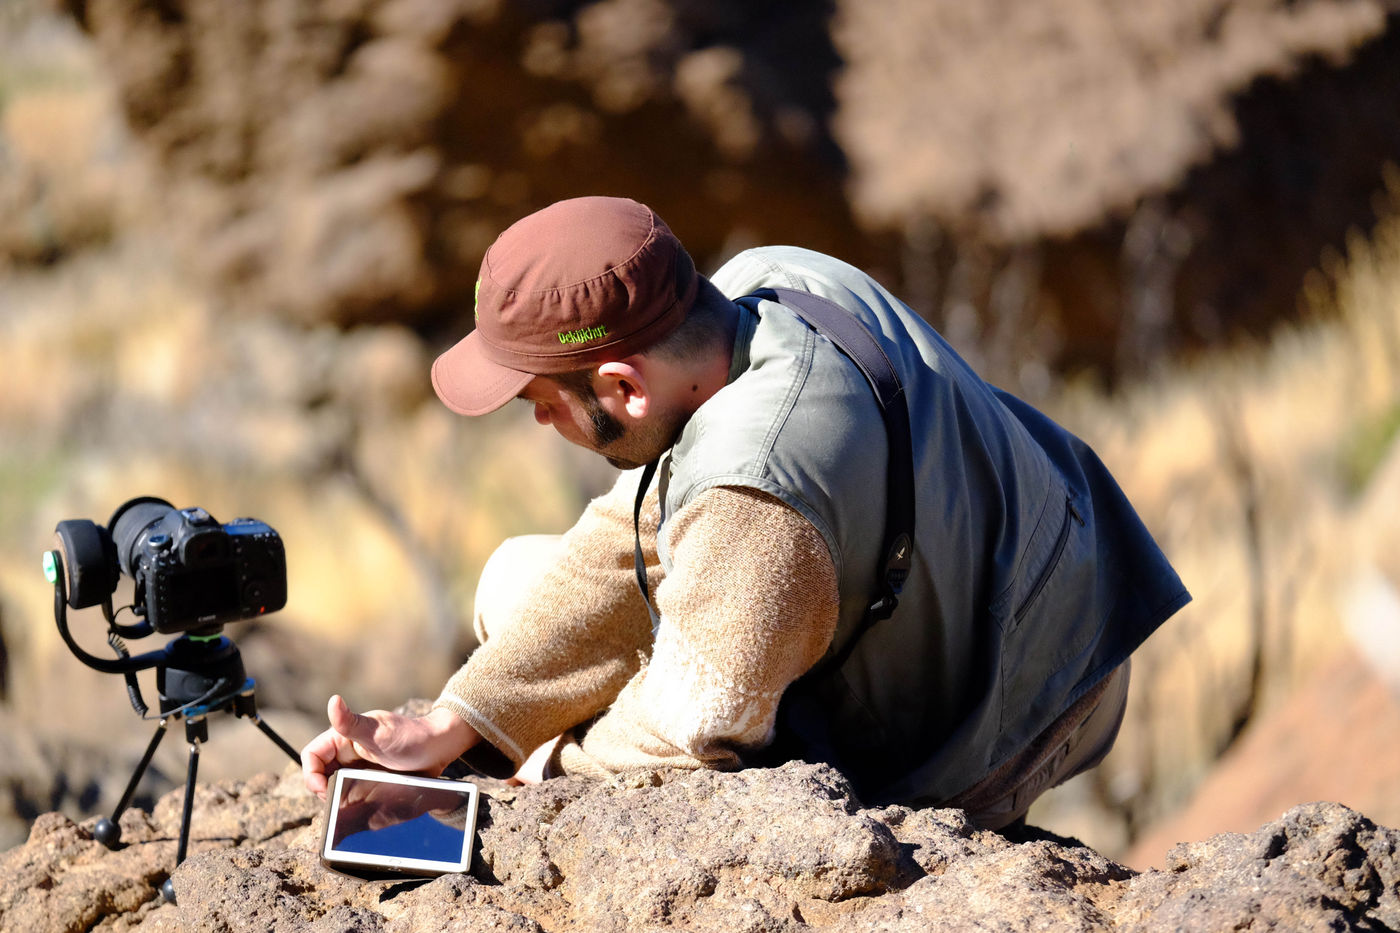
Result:
[[[1240,141],[1232,97],[1345,62],[1383,0],[839,6],[837,136],[862,212],[1075,231]],[[995,76],[995,80],[988,80]],[[917,80],[921,94],[892,94]],[[890,144],[892,140],[899,144]]]

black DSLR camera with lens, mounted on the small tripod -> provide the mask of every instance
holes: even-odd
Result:
[[[287,558],[281,537],[256,518],[220,524],[203,509],[175,509],[141,496],[118,507],[106,527],[60,521],[59,548],[66,601],[74,609],[104,605],[125,572],[136,584],[132,609],[147,630],[217,632],[287,604]],[[57,576],[49,567],[50,579]]]

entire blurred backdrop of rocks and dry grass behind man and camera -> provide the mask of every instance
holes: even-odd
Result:
[[[1400,824],[1397,99],[1396,0],[0,0],[0,846],[153,728],[57,639],[63,518],[276,527],[287,608],[227,633],[295,745],[437,693],[496,544],[612,478],[427,381],[494,235],[584,193],[706,270],[864,266],[1119,475],[1196,601],[1035,821],[1137,867]],[[286,765],[231,719],[206,759]]]

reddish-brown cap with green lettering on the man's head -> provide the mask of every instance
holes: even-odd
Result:
[[[696,284],[690,255],[645,205],[557,202],[486,251],[476,329],[433,363],[433,388],[458,415],[486,415],[536,375],[651,346],[685,319]]]

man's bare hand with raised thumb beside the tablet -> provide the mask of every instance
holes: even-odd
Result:
[[[447,709],[427,716],[400,716],[382,709],[361,714],[340,696],[332,696],[326,717],[330,728],[301,749],[302,780],[322,800],[326,779],[337,768],[378,765],[435,778],[482,740],[470,724]]]

